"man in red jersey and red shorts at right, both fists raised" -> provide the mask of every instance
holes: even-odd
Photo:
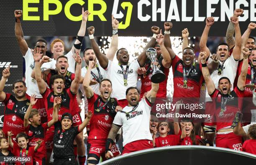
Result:
[[[242,137],[233,134],[231,125],[236,112],[239,112],[244,97],[244,89],[246,82],[246,74],[248,67],[249,49],[243,48],[243,66],[241,74],[238,78],[238,85],[234,90],[231,90],[232,84],[227,77],[221,77],[218,81],[218,89],[216,89],[214,82],[210,77],[209,70],[206,67],[206,52],[201,52],[202,74],[205,79],[208,94],[211,96],[215,104],[215,109],[212,110],[216,117],[216,146],[230,148],[233,150],[241,150]]]

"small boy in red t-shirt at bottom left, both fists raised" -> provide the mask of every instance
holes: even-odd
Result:
[[[18,145],[16,142],[13,143],[12,136],[13,132],[8,131],[8,142],[10,147],[12,148],[12,153],[14,156],[21,157],[20,162],[16,162],[16,165],[33,165],[33,157],[35,155],[35,152],[37,151],[38,147],[41,145],[42,140],[38,140],[35,147],[28,147],[28,135],[26,135],[24,132],[20,132],[16,136],[16,140],[18,142]],[[26,161],[26,159],[28,161]],[[30,159],[30,160],[29,160]]]

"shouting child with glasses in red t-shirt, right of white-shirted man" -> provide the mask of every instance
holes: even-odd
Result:
[[[186,132],[182,132],[182,135],[167,135],[170,131],[169,124],[167,122],[161,122],[159,124],[159,134],[160,136],[156,137],[157,129],[155,128],[153,134],[153,147],[165,147],[172,145],[179,145],[180,140],[186,137]]]

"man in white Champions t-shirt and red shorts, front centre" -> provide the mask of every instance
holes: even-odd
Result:
[[[129,87],[126,90],[128,106],[117,112],[106,142],[106,154],[108,159],[111,156],[110,148],[120,127],[123,129],[123,152],[122,155],[135,151],[153,148],[152,136],[149,130],[149,119],[152,104],[155,101],[159,84],[151,84],[151,90],[146,93],[145,99],[140,99],[136,87]]]

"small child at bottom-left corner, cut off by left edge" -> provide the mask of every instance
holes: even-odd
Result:
[[[8,144],[8,141],[5,137],[0,137],[0,157],[10,157],[10,156],[14,156],[12,154],[12,152],[8,151],[8,148],[9,148],[9,144]],[[0,162],[0,165],[14,165],[15,163],[13,162],[9,162],[9,163],[6,163],[6,162]]]

